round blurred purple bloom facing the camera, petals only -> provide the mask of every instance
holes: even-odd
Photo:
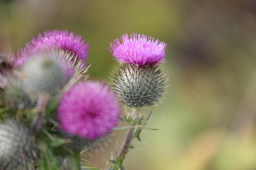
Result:
[[[93,140],[117,124],[121,106],[110,88],[100,82],[79,82],[64,93],[58,106],[61,130]]]

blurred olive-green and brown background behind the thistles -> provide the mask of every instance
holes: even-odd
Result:
[[[0,0],[0,50],[16,52],[38,33],[60,29],[89,43],[92,79],[110,82],[110,41],[124,33],[168,44],[168,93],[135,140],[126,170],[256,169],[255,0]],[[149,113],[151,108],[145,108]],[[105,168],[125,131],[85,154]]]

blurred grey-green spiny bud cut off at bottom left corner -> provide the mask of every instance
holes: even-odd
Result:
[[[37,153],[35,139],[24,124],[14,119],[0,123],[0,170],[30,169]]]

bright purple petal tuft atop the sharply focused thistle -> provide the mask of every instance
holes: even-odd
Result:
[[[165,48],[167,44],[154,40],[151,36],[133,33],[121,36],[119,39],[110,42],[108,50],[121,63],[131,63],[135,66],[155,65],[162,62],[165,56]]]

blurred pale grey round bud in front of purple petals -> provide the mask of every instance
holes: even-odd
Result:
[[[55,93],[67,80],[64,65],[54,53],[36,55],[30,57],[21,68],[25,91],[33,94]]]

